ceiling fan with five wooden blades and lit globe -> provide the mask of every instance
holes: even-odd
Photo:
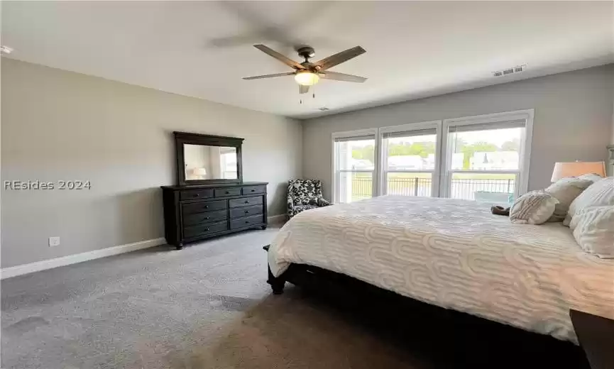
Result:
[[[263,53],[275,57],[275,59],[294,69],[294,72],[276,73],[275,75],[263,75],[256,77],[243,77],[243,79],[261,79],[294,75],[295,81],[300,84],[299,92],[301,94],[306,94],[309,92],[309,86],[317,84],[320,78],[358,83],[363,83],[367,80],[365,77],[346,75],[345,73],[339,72],[330,72],[328,70],[330,67],[334,67],[335,65],[339,65],[342,62],[352,59],[353,57],[366,53],[366,50],[360,46],[341,51],[341,53],[336,53],[329,57],[324,57],[324,59],[319,60],[318,62],[309,62],[309,59],[315,55],[314,49],[310,48],[309,46],[303,46],[297,49],[298,55],[305,58],[305,62],[302,63],[295,62],[289,57],[285,57],[285,55],[282,55],[277,51],[266,47],[265,45],[253,45],[253,47],[261,50]]]

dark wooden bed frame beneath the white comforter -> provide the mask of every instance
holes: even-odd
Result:
[[[268,251],[268,246],[264,249]],[[402,341],[420,347],[421,353],[454,358],[450,365],[455,368],[460,363],[493,369],[589,368],[582,349],[574,343],[430,305],[312,265],[291,264],[279,277],[268,268],[267,282],[273,294],[283,294],[285,283],[290,282],[324,297],[341,312],[358,314],[361,322],[365,316],[371,322],[377,318],[378,326],[400,330]],[[399,316],[404,317],[402,321]]]

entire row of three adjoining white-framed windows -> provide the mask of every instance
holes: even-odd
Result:
[[[333,134],[334,202],[374,195],[510,204],[527,191],[533,110]]]

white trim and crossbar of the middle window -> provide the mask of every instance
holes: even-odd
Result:
[[[437,197],[439,194],[439,165],[441,163],[441,160],[439,159],[439,155],[442,152],[442,149],[439,147],[441,146],[439,144],[439,142],[441,142],[442,139],[442,121],[424,121],[424,122],[417,122],[417,123],[407,123],[407,124],[401,124],[400,126],[385,126],[385,127],[381,127],[379,128],[379,133],[378,133],[378,143],[383,143],[383,136],[384,133],[393,133],[393,132],[408,132],[411,133],[411,131],[419,131],[421,129],[428,129],[428,128],[435,128],[435,130],[437,131],[437,152],[435,153],[435,169],[434,170],[412,170],[411,172],[427,172],[427,173],[432,173],[432,179],[431,179],[431,194],[433,197]],[[383,155],[383,150],[381,150],[381,153],[378,153],[378,167],[382,168],[382,170],[380,170],[378,173],[376,173],[377,178],[378,178],[378,194],[379,195],[383,195],[384,194],[384,189],[386,188],[386,178],[385,178],[385,172],[384,172],[384,168],[385,168],[385,163],[383,163],[384,160],[384,155]],[[389,170],[388,172],[395,172],[394,170]],[[400,172],[409,172],[407,170],[402,170]]]

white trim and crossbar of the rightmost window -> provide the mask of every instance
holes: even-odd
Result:
[[[531,163],[531,146],[532,146],[532,138],[533,138],[533,117],[534,117],[534,109],[526,109],[526,110],[517,110],[517,111],[505,111],[502,113],[494,113],[494,114],[483,114],[478,116],[464,116],[462,118],[454,118],[454,119],[444,119],[444,124],[442,127],[442,147],[445,146],[445,155],[442,155],[442,166],[444,167],[444,171],[442,172],[442,181],[440,186],[440,194],[442,197],[449,196],[449,171],[448,165],[451,163],[451,155],[452,151],[449,148],[448,142],[448,131],[450,126],[467,126],[471,124],[480,124],[480,123],[497,123],[503,121],[512,121],[517,119],[524,120],[525,123],[525,131],[523,133],[522,138],[520,139],[520,158],[522,161],[519,163],[520,167],[518,172],[518,185],[515,187],[515,197],[519,197],[521,194],[525,194],[529,188],[529,169]],[[445,156],[445,158],[444,158]],[[480,171],[458,171],[464,173],[497,173],[497,172],[515,172],[514,170],[480,170]]]

